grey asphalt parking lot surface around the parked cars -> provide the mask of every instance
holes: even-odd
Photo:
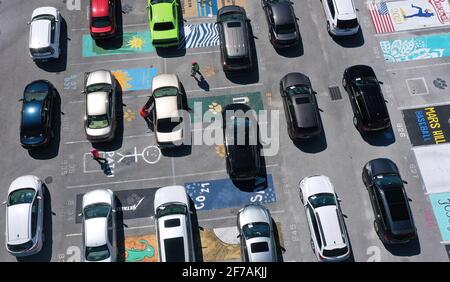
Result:
[[[330,177],[341,198],[345,224],[355,261],[448,261],[412,151],[402,110],[449,101],[446,81],[450,81],[448,59],[389,61],[380,42],[411,37],[444,36],[448,28],[376,33],[365,1],[354,1],[362,31],[349,40],[330,37],[319,1],[294,1],[302,44],[276,51],[268,40],[266,19],[260,1],[240,0],[251,19],[256,46],[257,69],[246,77],[227,77],[220,66],[218,40],[214,37],[213,15],[184,9],[185,48],[156,52],[145,42],[148,32],[146,1],[120,0],[123,37],[110,45],[96,46],[90,40],[88,1],[80,10],[71,1],[1,1],[0,12],[0,199],[6,199],[10,183],[21,175],[33,174],[45,181],[47,199],[43,251],[29,260],[80,261],[81,224],[77,214],[80,197],[97,188],[113,190],[120,201],[122,216],[119,238],[121,257],[126,261],[155,261],[156,241],[153,196],[156,188],[185,185],[192,192],[201,227],[201,258],[204,261],[239,261],[236,214],[246,203],[258,199],[266,205],[274,221],[284,261],[316,261],[298,183],[305,176]],[[232,1],[217,1],[231,3]],[[301,3],[300,3],[301,2]],[[220,4],[219,3],[219,4]],[[40,6],[54,5],[64,18],[63,56],[56,63],[36,65],[29,57],[26,22]],[[195,3],[194,3],[195,4]],[[68,9],[70,7],[71,9]],[[148,40],[148,39],[147,39]],[[120,48],[119,48],[120,47]],[[391,52],[393,54],[394,52]],[[411,56],[410,56],[411,57]],[[190,77],[196,60],[206,82]],[[355,64],[374,68],[387,100],[392,130],[362,136],[352,124],[348,95],[342,87],[344,69]],[[121,119],[118,136],[98,149],[108,160],[104,171],[91,159],[92,145],[83,129],[83,74],[110,69],[121,85]],[[302,72],[311,79],[321,109],[324,135],[314,143],[294,144],[288,137],[279,80],[289,72]],[[225,170],[223,147],[193,145],[175,151],[161,151],[153,132],[139,116],[150,95],[150,77],[159,73],[177,74],[188,103],[202,101],[204,111],[220,112],[220,107],[244,100],[252,107],[278,110],[279,151],[265,157],[266,174],[258,179],[254,192],[234,187]],[[59,92],[55,128],[50,147],[29,153],[19,144],[20,103],[24,86],[36,79],[48,79]],[[438,80],[439,79],[439,80]],[[412,81],[411,81],[412,80]],[[341,97],[331,97],[329,88],[339,87]],[[270,123],[272,121],[269,121]],[[207,125],[194,127],[203,132]],[[374,158],[388,157],[400,168],[408,182],[406,191],[418,230],[418,240],[398,248],[384,246],[373,228],[373,212],[361,181],[363,165]],[[205,192],[205,187],[209,188]],[[201,189],[203,188],[203,189]],[[259,188],[259,187],[258,187]],[[51,209],[50,209],[51,206]],[[4,230],[5,209],[0,209],[0,229]],[[1,240],[4,240],[2,232]],[[16,261],[4,247],[0,260]]]

